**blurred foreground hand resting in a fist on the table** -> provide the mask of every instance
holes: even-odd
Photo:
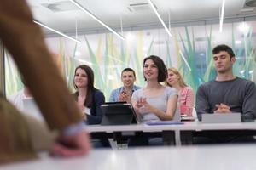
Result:
[[[50,149],[52,156],[83,156],[91,149],[88,133],[81,131],[71,136],[61,135]]]

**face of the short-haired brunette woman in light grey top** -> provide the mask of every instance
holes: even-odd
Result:
[[[147,59],[143,65],[143,75],[146,80],[156,80],[158,81],[158,68],[157,65],[154,64],[152,59]]]

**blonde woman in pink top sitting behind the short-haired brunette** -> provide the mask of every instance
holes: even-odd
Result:
[[[183,81],[183,77],[176,68],[168,69],[166,85],[176,88],[179,96],[179,108],[181,116],[192,116],[194,108],[194,92],[192,88]]]

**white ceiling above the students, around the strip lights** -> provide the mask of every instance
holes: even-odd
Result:
[[[219,10],[223,0],[152,0],[158,11],[168,23],[168,13],[171,16],[171,24],[193,20],[218,20]],[[85,14],[79,8],[53,12],[46,8],[46,3],[66,2],[66,6],[61,8],[72,8],[73,4],[69,0],[27,0],[32,8],[35,20],[44,23],[47,26],[55,28],[58,31],[71,33],[75,31],[77,20],[78,31],[96,31],[106,30],[90,16]],[[105,22],[114,30],[120,30],[120,20],[122,19],[124,28],[137,26],[161,26],[151,8],[144,10],[131,11],[130,4],[147,3],[147,0],[77,0],[78,3],[87,8],[92,14]],[[225,0],[225,18],[241,17],[255,15],[256,10],[252,12],[241,12],[244,3],[247,0]],[[149,7],[149,6],[148,6]],[[49,31],[47,31],[49,33]]]

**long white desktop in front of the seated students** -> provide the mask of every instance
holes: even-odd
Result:
[[[168,130],[256,130],[256,122],[239,122],[239,123],[201,123],[201,122],[184,122],[182,125],[119,125],[119,126],[101,126],[90,125],[86,127],[90,133],[96,132],[161,132]]]

